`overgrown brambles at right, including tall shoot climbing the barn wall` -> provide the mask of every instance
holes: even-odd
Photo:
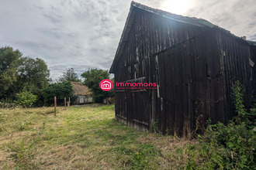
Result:
[[[256,128],[255,107],[250,113],[244,109],[244,87],[237,81],[232,87],[237,117],[229,124],[209,124],[205,134],[199,135],[197,145],[186,149],[189,169],[254,169]]]

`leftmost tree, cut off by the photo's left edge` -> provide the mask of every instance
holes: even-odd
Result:
[[[14,95],[11,87],[17,82],[16,70],[21,57],[18,49],[13,50],[10,46],[0,48],[0,99]]]

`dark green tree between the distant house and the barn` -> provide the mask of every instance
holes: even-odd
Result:
[[[81,74],[85,78],[85,85],[92,90],[92,97],[96,103],[102,103],[106,97],[111,97],[112,92],[103,91],[99,83],[103,79],[109,79],[108,70],[89,69]]]

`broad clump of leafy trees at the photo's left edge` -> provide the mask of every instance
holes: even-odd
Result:
[[[22,57],[18,49],[0,48],[0,99],[13,100],[16,93],[28,91],[40,95],[47,87],[50,71],[43,59]]]

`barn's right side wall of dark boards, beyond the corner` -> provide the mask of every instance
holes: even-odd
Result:
[[[252,96],[256,87],[255,67],[250,66],[250,59],[254,60],[255,56],[244,40],[220,30],[216,30],[216,34],[224,76],[225,112],[230,113],[226,120],[229,120],[235,115],[234,101],[231,97],[231,87],[235,81],[239,80],[245,87],[245,107],[248,109],[253,102]]]

